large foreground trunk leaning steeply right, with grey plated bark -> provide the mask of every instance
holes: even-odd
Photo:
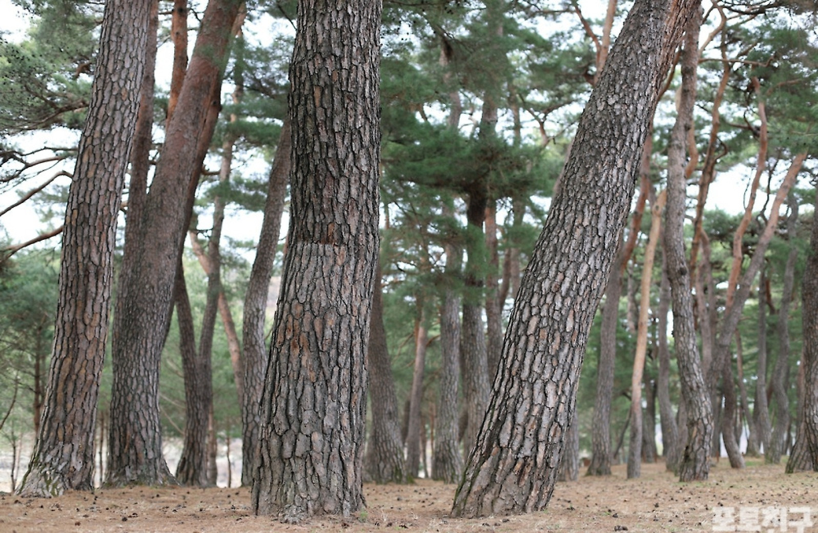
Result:
[[[694,2],[636,2],[578,126],[510,316],[488,412],[452,514],[546,506],[588,330],[627,217],[658,92]]]

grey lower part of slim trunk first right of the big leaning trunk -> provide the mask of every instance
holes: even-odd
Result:
[[[620,239],[621,241],[621,239]],[[619,322],[619,297],[622,294],[622,262],[625,247],[619,245],[608,286],[605,288],[605,307],[602,308],[600,328],[600,361],[596,365],[596,403],[591,424],[591,464],[589,476],[611,474],[610,413],[613,400],[613,365],[616,362],[616,329]]]

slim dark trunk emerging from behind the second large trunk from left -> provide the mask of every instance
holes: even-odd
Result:
[[[207,441],[208,411],[202,409],[212,401],[213,387],[210,382],[208,365],[200,358],[196,349],[196,329],[194,328],[191,302],[187,296],[185,271],[179,262],[176,274],[174,302],[176,320],[179,325],[179,352],[182,354],[182,371],[185,380],[185,434],[182,442],[182,456],[176,467],[176,480],[180,485],[208,486]]]

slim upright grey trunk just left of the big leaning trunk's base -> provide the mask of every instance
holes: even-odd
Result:
[[[456,272],[459,262],[453,258],[456,249],[447,245],[447,274]],[[460,378],[460,307],[461,299],[451,286],[443,289],[443,305],[440,308],[440,399],[438,417],[435,419],[434,459],[432,477],[447,483],[460,481],[463,457],[458,441],[458,396]]]

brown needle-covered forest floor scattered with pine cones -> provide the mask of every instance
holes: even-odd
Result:
[[[804,519],[798,507],[811,507],[816,522],[802,531],[818,532],[818,475],[785,475],[784,464],[765,466],[758,459],[749,460],[748,468],[741,471],[731,470],[723,459],[712,468],[709,481],[687,484],[665,472],[662,463],[643,464],[642,476],[635,480],[627,480],[625,466],[620,465],[613,468],[612,477],[581,476],[579,481],[558,483],[545,511],[515,517],[447,517],[454,490],[455,486],[422,479],[410,486],[366,485],[366,511],[346,519],[313,518],[299,525],[255,517],[249,508],[249,490],[243,488],[133,487],[72,492],[54,499],[0,493],[0,533],[681,532],[735,531],[736,526],[753,523],[763,526],[761,531],[772,531],[775,524],[764,523],[770,508],[789,511],[789,522],[775,531],[794,533],[798,531],[794,521]],[[726,520],[721,525],[733,529],[714,530],[712,508],[720,508]],[[740,519],[739,508],[745,508]]]

